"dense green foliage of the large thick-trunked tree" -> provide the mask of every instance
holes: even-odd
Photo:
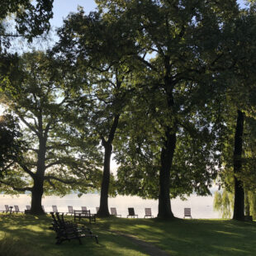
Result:
[[[166,164],[173,197],[209,193],[221,165],[220,97],[230,78],[222,71],[233,63],[235,1],[97,4],[103,19],[126,21],[126,35],[135,38],[129,53],[134,61],[128,63],[135,67],[133,106],[125,108],[116,142],[119,192],[156,198],[159,170]],[[170,133],[177,143],[173,163],[167,164],[161,152]]]

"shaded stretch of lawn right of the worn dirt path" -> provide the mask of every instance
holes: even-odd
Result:
[[[111,222],[111,230],[135,235],[172,255],[256,255],[254,222],[180,219]]]

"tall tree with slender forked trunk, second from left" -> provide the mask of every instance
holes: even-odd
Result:
[[[109,216],[108,194],[111,180],[111,154],[116,130],[124,107],[130,102],[129,75],[127,68],[130,40],[126,36],[124,21],[102,18],[101,12],[84,15],[83,9],[69,15],[59,29],[58,49],[65,61],[75,65],[82,73],[84,83],[76,86],[80,101],[90,102],[90,116],[94,135],[104,149],[102,187],[98,216]],[[64,57],[65,56],[65,57]]]

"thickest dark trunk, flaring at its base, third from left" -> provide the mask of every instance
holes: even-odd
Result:
[[[166,132],[166,140],[161,151],[161,168],[159,176],[159,218],[173,219],[170,201],[170,170],[176,146],[176,133],[171,129]]]

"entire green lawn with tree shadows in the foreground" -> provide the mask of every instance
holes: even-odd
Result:
[[[98,235],[99,244],[84,238],[83,245],[79,245],[78,240],[55,245],[55,232],[49,229],[50,225],[50,216],[0,215],[0,255],[149,255],[143,246],[126,235],[153,244],[169,255],[256,255],[255,222],[111,217],[88,225],[93,234]],[[10,252],[3,252],[7,247]],[[17,252],[11,253],[13,248]]]

